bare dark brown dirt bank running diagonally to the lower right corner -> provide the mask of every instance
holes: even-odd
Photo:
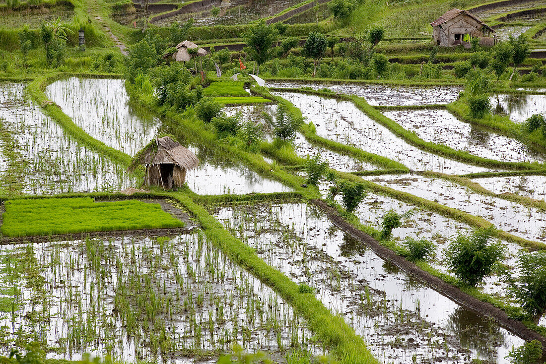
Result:
[[[472,311],[483,315],[484,317],[489,317],[497,321],[502,327],[514,333],[525,341],[538,340],[542,343],[542,347],[546,348],[546,338],[541,336],[539,333],[527,329],[527,327],[521,323],[521,321],[514,320],[508,317],[506,312],[502,311],[500,308],[497,308],[490,303],[486,303],[476,299],[475,297],[464,293],[459,288],[450,285],[442,279],[432,276],[430,273],[425,272],[419,268],[414,263],[407,261],[402,256],[396,255],[392,250],[383,247],[377,240],[373,237],[364,234],[364,232],[358,230],[353,225],[346,222],[333,208],[325,204],[321,200],[311,200],[311,203],[324,211],[328,218],[341,230],[348,232],[354,238],[357,238],[359,241],[363,242],[369,246],[374,253],[376,253],[383,260],[387,260],[400,267],[403,271],[409,273],[410,275],[417,277],[423,281],[428,287],[436,290],[438,293],[448,297],[459,305],[464,306]]]

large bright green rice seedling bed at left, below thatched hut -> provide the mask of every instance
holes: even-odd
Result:
[[[91,198],[6,201],[3,219],[2,234],[12,237],[184,225],[159,204],[136,200],[94,202]]]

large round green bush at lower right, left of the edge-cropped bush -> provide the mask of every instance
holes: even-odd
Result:
[[[506,247],[491,242],[493,227],[478,229],[471,235],[459,234],[446,249],[449,271],[460,282],[475,286],[488,277],[494,265],[503,258]]]

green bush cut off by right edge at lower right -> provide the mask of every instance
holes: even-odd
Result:
[[[546,311],[546,253],[520,253],[519,275],[511,279],[511,291],[527,313],[541,317]]]

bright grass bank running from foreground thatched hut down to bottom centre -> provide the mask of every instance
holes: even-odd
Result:
[[[298,284],[260,259],[254,249],[229,234],[221,223],[189,196],[181,193],[173,195],[199,220],[212,243],[280,294],[296,313],[306,319],[308,329],[331,349],[330,353],[339,358],[341,363],[378,363],[366,347],[364,339],[356,335],[343,317],[332,314],[312,293],[300,293]]]

